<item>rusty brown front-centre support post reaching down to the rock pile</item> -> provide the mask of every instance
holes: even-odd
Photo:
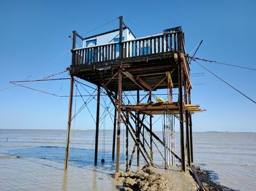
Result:
[[[121,127],[121,103],[122,103],[122,73],[118,71],[118,123],[117,123],[117,137],[116,137],[116,171],[120,170],[120,127]]]

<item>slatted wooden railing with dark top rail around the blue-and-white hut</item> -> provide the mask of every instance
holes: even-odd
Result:
[[[93,47],[82,47],[72,50],[73,63],[93,66],[105,61],[114,61],[120,58],[120,47],[123,51],[123,58],[138,58],[165,52],[184,52],[182,44],[182,34],[177,32],[123,41],[121,46],[118,42],[111,42]]]

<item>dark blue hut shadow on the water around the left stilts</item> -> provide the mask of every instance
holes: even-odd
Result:
[[[10,156],[34,157],[44,160],[51,160],[57,163],[64,163],[65,148],[64,147],[32,147],[24,149],[11,149],[4,153]],[[105,163],[101,163],[102,156],[105,156]],[[124,160],[124,156],[120,155],[120,160]],[[69,165],[76,167],[92,167],[94,166],[94,149],[69,149]],[[115,163],[112,162],[112,152],[98,152],[97,168],[114,170]]]

